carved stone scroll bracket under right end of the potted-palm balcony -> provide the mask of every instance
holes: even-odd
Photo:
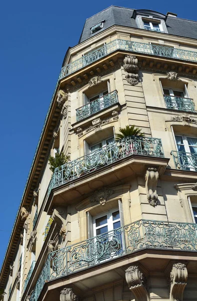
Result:
[[[151,206],[157,205],[158,196],[156,193],[156,186],[159,174],[155,168],[148,168],[145,175],[145,189],[147,200]]]

